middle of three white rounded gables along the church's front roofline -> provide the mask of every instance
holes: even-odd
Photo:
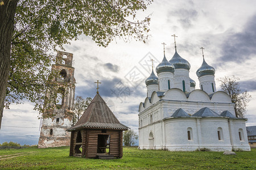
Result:
[[[210,102],[210,96],[203,90],[193,90],[188,95],[188,101]]]

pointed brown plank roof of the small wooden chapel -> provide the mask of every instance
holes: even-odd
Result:
[[[96,94],[88,108],[82,114],[79,121],[68,131],[76,129],[116,129],[128,130],[129,128],[121,124],[114,113],[106,105],[100,94]]]

